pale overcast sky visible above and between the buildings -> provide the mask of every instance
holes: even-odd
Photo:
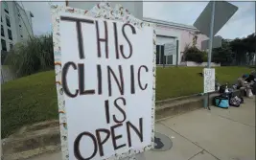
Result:
[[[144,2],[143,16],[186,25],[193,25],[208,2]],[[216,35],[234,39],[255,32],[254,2],[231,2],[239,10]],[[55,2],[64,5],[64,2]],[[51,33],[51,16],[48,2],[23,2],[26,10],[32,11],[34,34]]]

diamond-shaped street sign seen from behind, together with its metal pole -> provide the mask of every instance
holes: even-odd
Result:
[[[238,11],[238,7],[225,1],[210,1],[205,9],[200,13],[194,26],[209,37],[209,52],[207,68],[211,68],[213,37],[223,25]],[[205,92],[204,92],[205,93]],[[204,95],[204,107],[210,109],[208,104],[209,94]]]

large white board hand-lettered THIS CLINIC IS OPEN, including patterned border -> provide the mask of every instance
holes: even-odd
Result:
[[[150,24],[55,6],[52,19],[63,159],[118,159],[151,149]]]

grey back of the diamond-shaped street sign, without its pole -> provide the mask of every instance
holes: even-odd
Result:
[[[215,15],[214,15],[214,30],[213,35],[217,34],[224,24],[231,18],[231,16],[238,11],[238,7],[225,2],[216,1]],[[196,27],[202,34],[210,37],[210,25],[211,25],[211,13],[212,13],[213,1],[210,1],[205,9],[200,13],[198,19],[194,23]]]

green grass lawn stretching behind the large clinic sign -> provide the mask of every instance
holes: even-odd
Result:
[[[221,82],[234,82],[245,67],[217,67]],[[201,67],[157,68],[156,100],[165,100],[202,92]],[[58,119],[54,71],[42,72],[2,85],[2,137],[24,125]]]

